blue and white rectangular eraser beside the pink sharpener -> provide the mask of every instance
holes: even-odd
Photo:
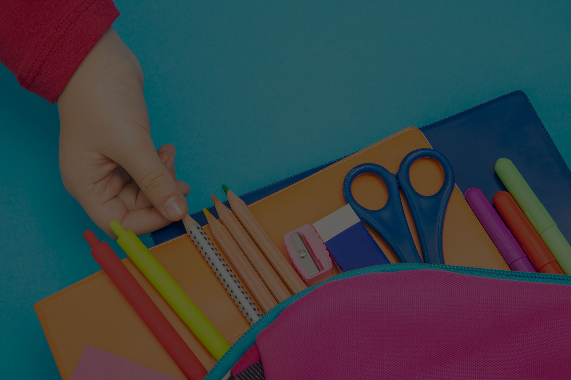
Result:
[[[387,256],[348,204],[313,223],[313,228],[341,272],[389,264]]]

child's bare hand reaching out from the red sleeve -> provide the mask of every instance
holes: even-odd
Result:
[[[59,167],[67,191],[111,237],[116,219],[144,235],[182,219],[190,188],[176,180],[175,149],[155,151],[143,71],[112,27],[57,101]]]

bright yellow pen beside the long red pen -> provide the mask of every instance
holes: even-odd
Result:
[[[127,253],[127,256],[131,258],[144,276],[147,277],[152,286],[171,305],[180,319],[196,335],[196,338],[202,342],[216,360],[222,358],[222,355],[230,348],[226,339],[220,335],[194,302],[188,298],[184,290],[176,284],[171,275],[152,256],[143,242],[132,231],[125,231],[116,220],[109,223],[109,227],[117,235],[119,246]]]

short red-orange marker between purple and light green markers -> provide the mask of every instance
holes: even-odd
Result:
[[[549,249],[537,235],[516,201],[507,191],[498,191],[494,195],[494,206],[508,225],[521,248],[528,255],[537,272],[564,274]]]

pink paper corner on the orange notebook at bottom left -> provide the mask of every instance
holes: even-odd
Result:
[[[108,352],[86,346],[71,380],[175,380]]]

